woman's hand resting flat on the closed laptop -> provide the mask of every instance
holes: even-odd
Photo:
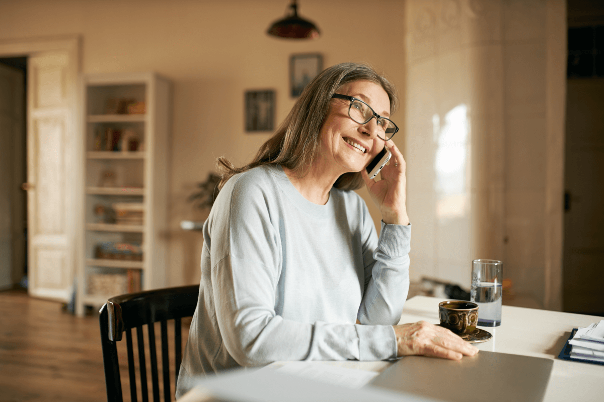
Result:
[[[463,356],[474,356],[478,353],[478,348],[460,336],[428,321],[394,325],[394,333],[398,356],[419,354],[460,360]]]

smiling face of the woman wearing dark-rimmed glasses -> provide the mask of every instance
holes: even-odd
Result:
[[[365,101],[381,116],[390,117],[390,99],[386,91],[371,81],[353,81],[341,86],[336,93]],[[321,127],[319,163],[326,172],[341,175],[360,172],[384,148],[377,137],[376,119],[359,124],[348,114],[350,101],[332,99],[327,118]]]

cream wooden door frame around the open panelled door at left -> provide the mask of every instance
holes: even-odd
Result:
[[[79,135],[82,128],[82,93],[80,91],[80,72],[82,71],[82,62],[80,55],[82,54],[82,40],[77,34],[53,37],[37,37],[24,39],[4,39],[0,40],[0,57],[31,57],[34,55],[47,52],[65,52],[69,59],[69,68],[65,77],[66,90],[69,101],[68,105],[68,127],[67,135],[73,136],[74,149],[67,157],[72,160],[73,166],[83,166],[84,163],[84,145],[83,136]],[[27,111],[26,111],[27,114]],[[77,266],[83,263],[83,239],[82,236],[77,236],[82,233],[83,229],[83,169],[73,169],[72,175],[74,183],[72,183],[72,199],[69,203],[74,207],[74,217],[71,219],[71,225],[68,228],[70,249],[72,250],[72,265],[69,277],[71,283],[76,276]],[[30,248],[28,242],[28,249]],[[29,254],[30,251],[27,250]],[[31,256],[30,256],[31,257]],[[31,259],[29,259],[31,261]],[[28,272],[28,274],[31,274]],[[73,291],[73,289],[72,289]],[[31,294],[31,293],[30,293]],[[51,299],[65,300],[65,295],[36,295],[39,297],[48,297]]]

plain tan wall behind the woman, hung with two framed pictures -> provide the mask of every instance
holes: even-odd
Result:
[[[201,233],[180,230],[182,219],[204,219],[185,199],[225,155],[248,162],[269,134],[243,131],[243,93],[275,89],[277,124],[288,95],[289,55],[321,52],[324,66],[361,61],[383,71],[404,93],[404,3],[305,0],[301,16],[321,30],[318,40],[268,37],[286,0],[2,0],[0,40],[79,34],[84,73],[155,71],[173,82],[170,166],[170,282],[199,281]],[[385,11],[387,10],[387,11]],[[404,98],[404,96],[401,96]],[[404,99],[402,99],[404,100]],[[404,102],[402,102],[404,108]],[[404,113],[393,115],[405,127]],[[404,149],[404,136],[394,137]],[[363,195],[364,192],[361,191]],[[367,204],[379,222],[368,196]]]

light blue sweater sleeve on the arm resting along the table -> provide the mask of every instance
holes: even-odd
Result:
[[[298,322],[275,313],[283,251],[269,198],[262,189],[236,186],[223,224],[211,227],[211,283],[223,347],[242,366],[396,357],[391,325]]]

